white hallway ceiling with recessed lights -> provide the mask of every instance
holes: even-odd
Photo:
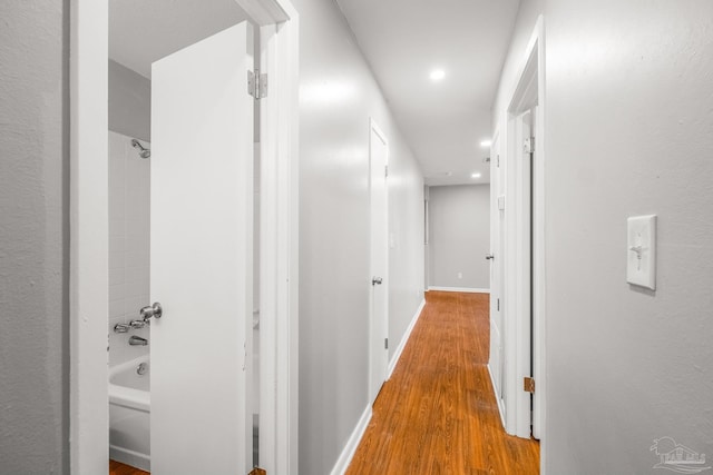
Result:
[[[488,182],[490,109],[519,0],[336,0],[428,185]],[[433,82],[431,70],[446,78]],[[473,172],[482,178],[472,179]],[[450,174],[450,175],[449,175]]]

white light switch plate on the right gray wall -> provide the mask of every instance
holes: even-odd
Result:
[[[626,280],[656,290],[656,215],[627,219]]]

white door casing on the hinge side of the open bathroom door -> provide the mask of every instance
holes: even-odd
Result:
[[[261,24],[261,71],[271,77],[270,96],[260,102],[260,463],[267,473],[296,474],[299,19],[287,0],[236,1],[252,14],[272,4],[253,18]]]

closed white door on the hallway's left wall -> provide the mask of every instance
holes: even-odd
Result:
[[[371,192],[371,316],[369,321],[369,396],[373,403],[387,378],[389,367],[389,202],[387,174],[389,145],[383,132],[371,122],[369,138]]]

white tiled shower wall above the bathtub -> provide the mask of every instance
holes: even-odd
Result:
[[[116,324],[138,319],[150,304],[150,159],[140,158],[130,142],[131,137],[109,132],[109,366],[149,353],[148,346],[128,344],[131,335],[148,339],[148,327],[114,333]]]

